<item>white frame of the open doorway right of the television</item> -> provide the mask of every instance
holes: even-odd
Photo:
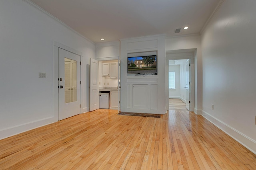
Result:
[[[166,110],[169,110],[169,60],[182,60],[190,59],[190,111],[194,111],[195,107],[195,82],[194,82],[194,51],[196,49],[182,49],[182,50],[172,50],[166,53]]]

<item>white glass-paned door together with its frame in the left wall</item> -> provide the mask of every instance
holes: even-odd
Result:
[[[81,113],[82,53],[54,41],[54,121]]]

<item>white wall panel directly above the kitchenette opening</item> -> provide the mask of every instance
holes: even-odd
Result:
[[[96,44],[96,57],[97,59],[108,59],[112,60],[114,57],[120,55],[120,42],[106,42]]]

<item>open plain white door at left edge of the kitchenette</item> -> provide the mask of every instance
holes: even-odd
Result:
[[[90,61],[90,111],[99,109],[98,61]]]

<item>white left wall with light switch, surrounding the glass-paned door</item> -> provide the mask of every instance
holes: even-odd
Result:
[[[95,45],[22,0],[1,0],[0,16],[0,139],[58,119],[54,41],[83,55],[81,99],[88,111],[88,64]],[[39,72],[46,78],[38,78]]]

